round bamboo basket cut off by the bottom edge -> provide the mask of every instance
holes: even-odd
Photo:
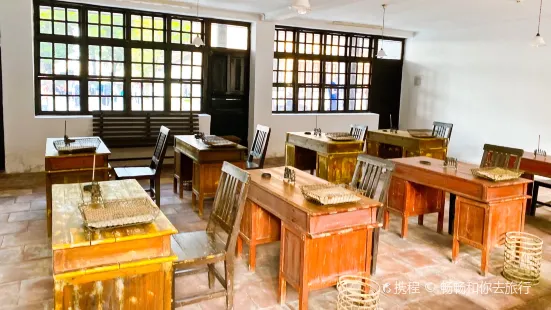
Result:
[[[371,310],[379,307],[379,284],[369,274],[341,276],[337,283],[338,310]]]

